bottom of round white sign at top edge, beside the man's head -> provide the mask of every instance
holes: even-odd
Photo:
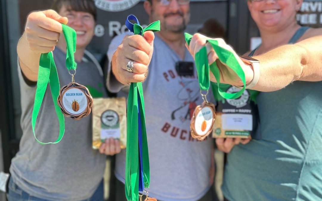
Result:
[[[125,11],[137,5],[140,0],[94,0],[96,7],[104,11]]]

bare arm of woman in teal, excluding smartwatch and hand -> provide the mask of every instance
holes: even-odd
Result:
[[[322,80],[321,41],[314,37],[255,56],[260,60],[260,79],[252,89],[275,91],[296,80]]]

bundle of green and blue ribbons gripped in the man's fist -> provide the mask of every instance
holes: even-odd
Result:
[[[129,20],[135,20],[136,23],[130,23]],[[141,36],[145,31],[160,31],[160,21],[151,23],[143,29],[134,15],[128,16],[125,25],[131,32]],[[125,193],[128,200],[137,201],[138,191],[143,191],[150,184],[142,82],[130,85],[127,116]]]

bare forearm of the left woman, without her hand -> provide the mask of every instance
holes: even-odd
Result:
[[[17,45],[17,53],[19,64],[25,77],[31,81],[37,81],[40,53],[35,53],[30,50],[25,38],[25,33],[22,35]]]

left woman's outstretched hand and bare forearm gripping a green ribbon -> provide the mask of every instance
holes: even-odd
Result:
[[[62,33],[61,23],[67,21],[53,10],[28,15],[25,32],[17,45],[19,64],[26,78],[37,81],[40,55],[54,50]]]

